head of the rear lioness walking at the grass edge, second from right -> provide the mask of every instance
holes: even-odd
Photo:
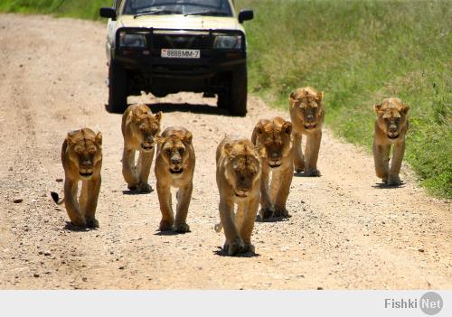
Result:
[[[294,111],[298,119],[303,122],[306,130],[315,129],[321,122],[323,115],[322,99],[324,92],[316,92],[310,87],[300,88],[290,94],[291,112]]]

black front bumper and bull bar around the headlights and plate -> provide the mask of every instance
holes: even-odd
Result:
[[[121,32],[139,33],[146,37],[145,48],[112,46],[112,61],[146,79],[210,79],[234,71],[246,64],[245,34],[231,30],[178,30],[155,28],[120,28]],[[215,34],[241,36],[240,50],[213,49]],[[199,50],[199,59],[163,58],[162,49]]]

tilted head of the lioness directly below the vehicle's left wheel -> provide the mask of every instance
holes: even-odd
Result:
[[[160,133],[162,112],[153,114],[149,107],[140,105],[132,110],[132,130],[141,141],[141,149],[150,152],[154,149],[155,136]]]

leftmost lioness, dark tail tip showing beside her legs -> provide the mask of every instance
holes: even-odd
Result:
[[[95,218],[100,191],[102,135],[85,127],[68,133],[61,148],[64,169],[64,198],[51,192],[57,204],[64,202],[71,223],[78,227],[99,227]],[[81,181],[80,198],[77,200]]]

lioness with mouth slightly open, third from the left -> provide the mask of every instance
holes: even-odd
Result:
[[[186,223],[188,207],[192,199],[193,172],[195,164],[192,134],[184,127],[171,126],[156,138],[158,144],[155,159],[157,194],[162,211],[160,230],[189,232]],[[176,194],[177,207],[174,220],[171,187],[179,190]],[[173,227],[174,226],[174,227]]]

